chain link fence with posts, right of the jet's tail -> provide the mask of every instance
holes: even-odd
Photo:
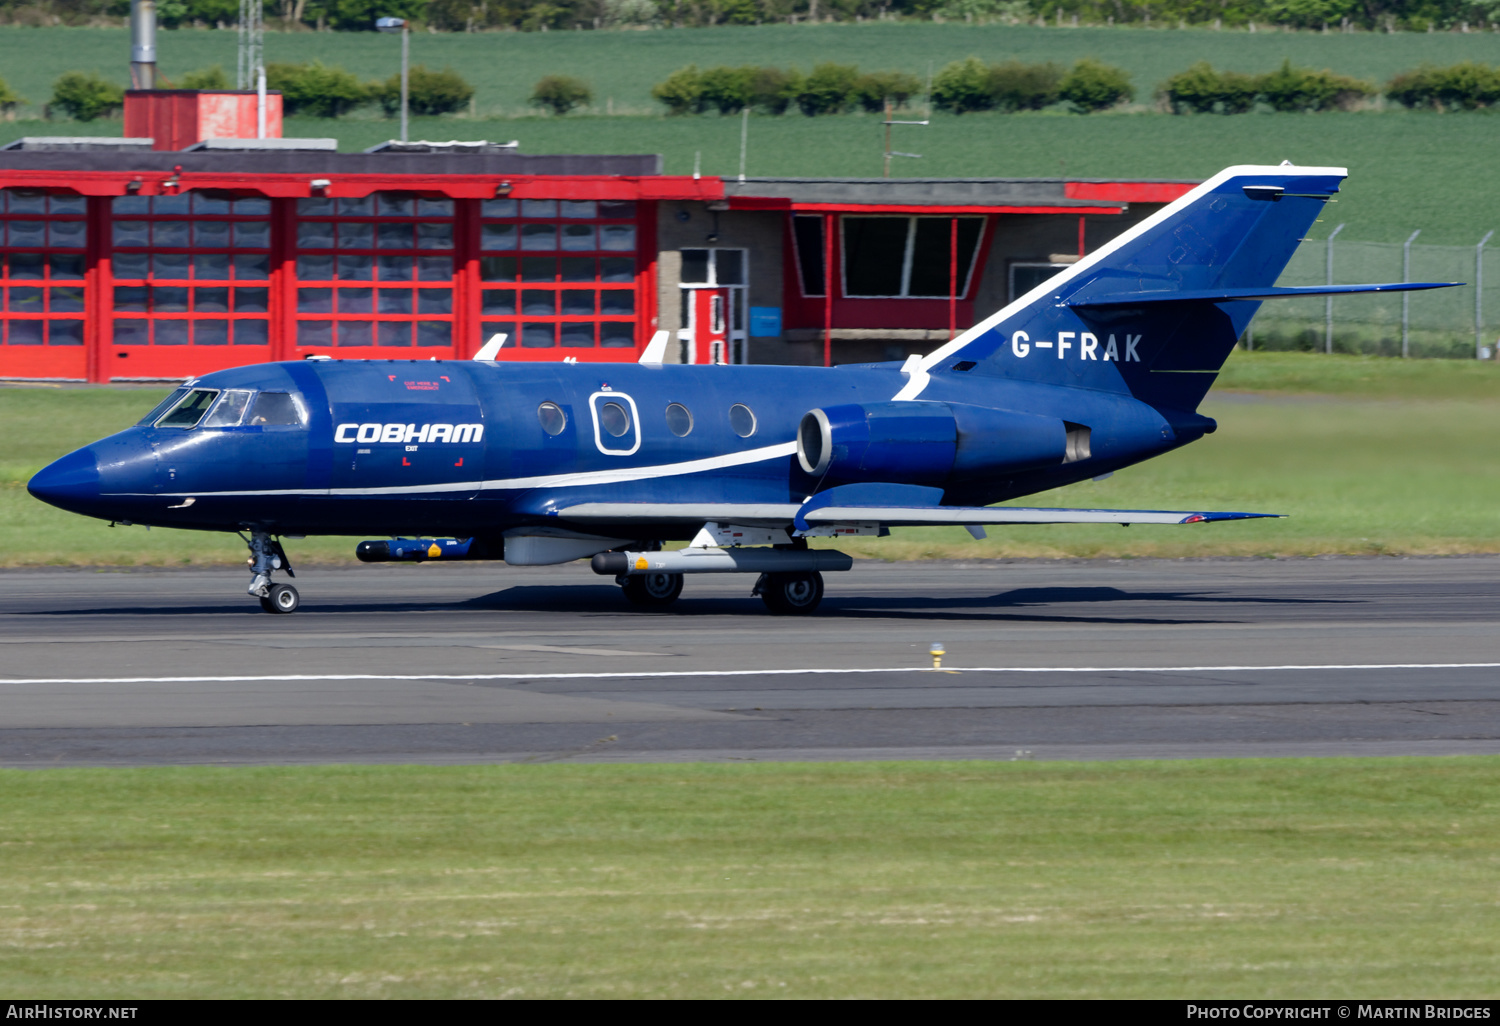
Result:
[[[1419,237],[1416,232],[1413,240]],[[1485,236],[1485,242],[1488,238]],[[1401,280],[1464,285],[1425,292],[1266,300],[1240,345],[1304,352],[1494,358],[1500,344],[1500,255],[1478,238],[1474,246],[1338,237],[1306,242],[1276,285]],[[1482,288],[1476,282],[1482,282]]]

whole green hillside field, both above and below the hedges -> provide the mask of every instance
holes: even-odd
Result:
[[[116,28],[0,28],[0,74],[40,102],[68,68],[123,74],[126,33]],[[234,33],[162,33],[168,75],[204,64],[234,66]],[[321,57],[363,76],[396,68],[396,42],[374,33],[272,33],[270,60]],[[656,114],[650,87],[698,62],[776,63],[810,68],[818,60],[864,68],[902,68],[926,76],[928,64],[978,54],[988,60],[1070,62],[1098,56],[1134,75],[1140,99],[1167,75],[1194,60],[1263,70],[1284,57],[1298,63],[1384,80],[1422,62],[1500,62],[1500,33],[1330,34],[1209,30],[1035,28],[936,24],[764,26],[675,32],[554,32],[423,34],[412,60],[453,64],[478,90],[478,120],[417,118],[414,138],[519,138],[528,153],[662,153],[666,170],[687,174],[702,154],[706,174],[735,174],[738,118],[666,118]],[[525,98],[544,74],[580,74],[594,82],[598,116],[543,118]],[[117,75],[118,76],[118,75]],[[616,117],[603,116],[612,108]],[[630,114],[628,117],[622,114]],[[495,117],[501,116],[501,117]],[[874,116],[808,118],[756,117],[750,129],[753,176],[878,176],[882,135]],[[898,160],[900,176],[928,177],[1164,177],[1200,178],[1230,164],[1338,165],[1350,168],[1340,206],[1328,219],[1347,222],[1344,238],[1400,242],[1413,230],[1422,243],[1473,244],[1500,226],[1500,192],[1491,188],[1494,136],[1488,112],[1430,114],[1251,114],[1172,117],[1119,112],[1092,117],[1041,112],[936,117],[906,129],[898,148],[922,153]],[[0,144],[21,135],[118,135],[120,122],[3,122]],[[387,140],[394,123],[372,116],[292,118],[288,135],[336,135],[345,150]],[[1328,226],[1316,226],[1314,237]]]

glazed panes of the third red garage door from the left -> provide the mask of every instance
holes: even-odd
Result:
[[[297,345],[453,345],[453,201],[297,201]]]

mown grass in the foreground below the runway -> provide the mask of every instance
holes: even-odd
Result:
[[[0,987],[1486,998],[1500,760],[0,772]]]

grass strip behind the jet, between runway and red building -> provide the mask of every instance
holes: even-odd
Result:
[[[164,390],[0,387],[0,566],[228,564],[238,538],[110,528],[34,501],[46,462],[134,423]],[[1278,556],[1500,552],[1500,364],[1238,352],[1203,410],[1220,430],[1176,453],[1029,496],[1028,506],[1226,508],[1287,519],[1180,528],[898,528],[867,558]],[[288,543],[350,562],[357,538]]]

